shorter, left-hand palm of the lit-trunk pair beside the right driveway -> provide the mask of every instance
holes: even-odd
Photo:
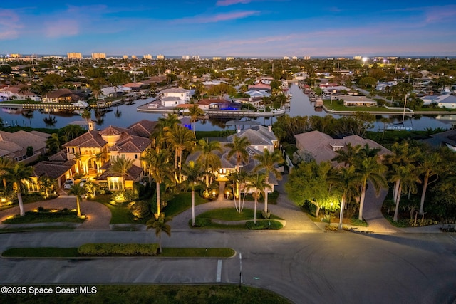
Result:
[[[341,167],[335,174],[328,177],[328,181],[332,182],[335,187],[340,189],[342,193],[341,199],[341,215],[339,217],[338,229],[342,229],[343,210],[346,203],[350,201],[353,195],[357,195],[359,192],[360,176],[355,171],[355,167]]]

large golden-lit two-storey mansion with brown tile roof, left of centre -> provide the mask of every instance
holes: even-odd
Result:
[[[75,159],[76,173],[98,175],[100,183],[105,182],[109,190],[133,187],[142,178],[144,164],[141,157],[150,147],[150,135],[157,122],[141,120],[127,128],[109,126],[104,130],[89,130],[83,135],[63,145],[68,159]],[[133,166],[127,176],[119,177],[109,172],[115,159],[133,159]],[[123,183],[125,182],[125,183]]]

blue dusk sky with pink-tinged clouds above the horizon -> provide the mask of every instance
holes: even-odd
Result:
[[[454,0],[1,2],[3,56],[456,56]]]

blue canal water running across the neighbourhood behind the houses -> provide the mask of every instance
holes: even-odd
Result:
[[[287,109],[287,114],[290,116],[325,116],[327,115],[321,108],[314,108],[313,103],[309,101],[307,95],[299,88],[296,83],[289,84],[289,92],[292,94],[290,101],[290,108]],[[160,114],[151,114],[151,113],[141,113],[137,112],[136,108],[139,105],[145,105],[150,103],[152,99],[145,100],[136,100],[133,105],[119,105],[118,107],[113,107],[108,112],[97,112],[91,110],[92,120],[97,123],[97,127],[103,129],[109,125],[115,125],[118,127],[128,127],[133,125],[133,123],[138,122],[139,120],[157,120],[159,117],[162,117]],[[54,127],[60,128],[64,127],[71,122],[81,121],[83,118],[76,112],[73,113],[63,113],[63,112],[52,112],[45,113],[40,112],[39,110],[9,110],[5,108],[0,109],[0,117],[4,122],[8,122],[10,125],[21,125],[26,127]],[[54,125],[46,125],[46,122],[43,120],[46,117],[56,118],[56,123]],[[334,115],[334,117],[339,117]],[[378,117],[379,118],[379,117]],[[227,120],[232,120],[229,118]],[[196,130],[210,131],[210,130],[225,130],[233,129],[235,126],[225,127],[224,122],[227,120],[200,120],[196,124]],[[258,117],[254,118],[244,118],[242,120],[253,120],[261,123],[261,125],[271,125],[276,121],[276,117]],[[402,120],[401,116],[395,116],[393,122],[400,122]],[[443,129],[450,129],[451,124],[456,122],[456,115],[434,115],[430,116],[419,116],[415,117],[405,117],[404,125],[406,127],[413,127],[413,130],[425,130],[427,127],[436,128],[441,127]],[[376,122],[373,130],[378,130],[383,128],[383,123]]]

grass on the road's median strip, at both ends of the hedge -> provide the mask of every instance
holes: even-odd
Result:
[[[234,256],[232,248],[162,248],[157,257],[165,258],[230,258]],[[81,255],[78,248],[9,248],[1,253],[9,258],[87,258],[90,255]]]

